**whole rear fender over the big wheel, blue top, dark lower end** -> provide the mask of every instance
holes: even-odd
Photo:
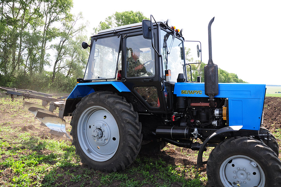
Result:
[[[95,91],[130,92],[122,83],[117,81],[78,83],[66,99],[63,116],[69,116],[75,110],[81,99]]]

